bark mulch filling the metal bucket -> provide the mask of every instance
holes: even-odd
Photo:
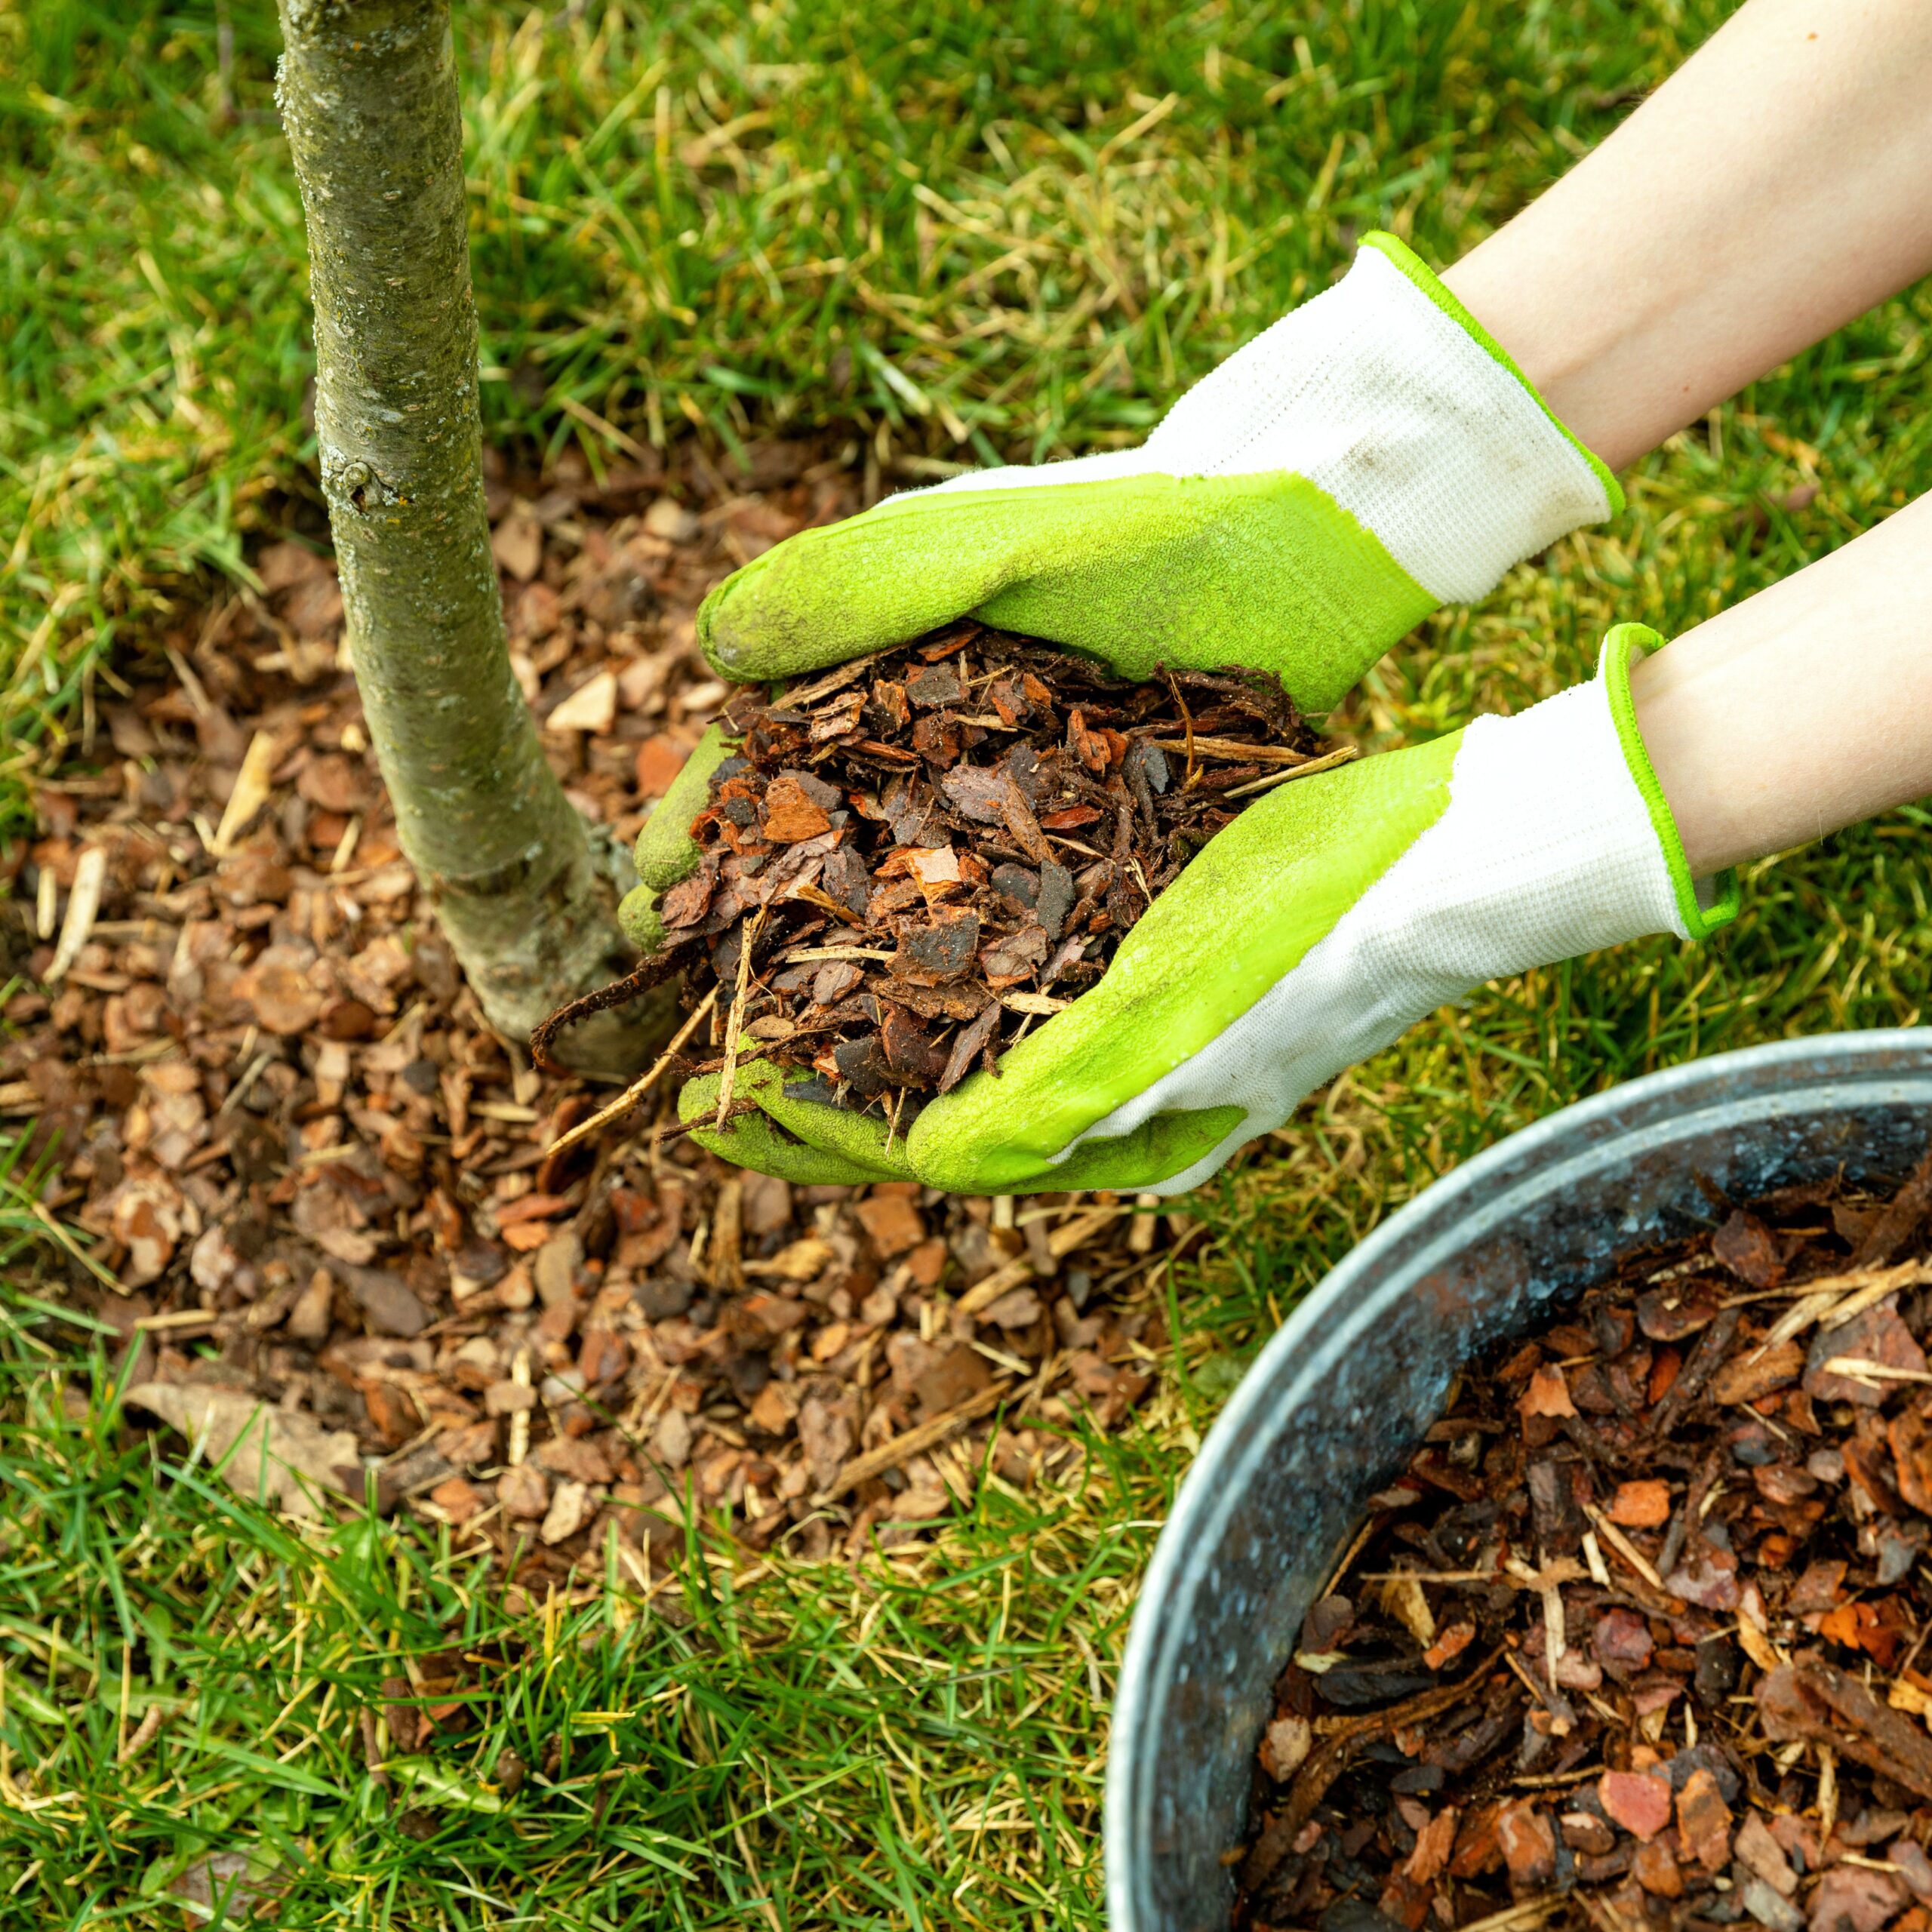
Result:
[[[1932,1926],[1928,1206],[1725,1206],[1461,1378],[1281,1675],[1236,1924]]]

